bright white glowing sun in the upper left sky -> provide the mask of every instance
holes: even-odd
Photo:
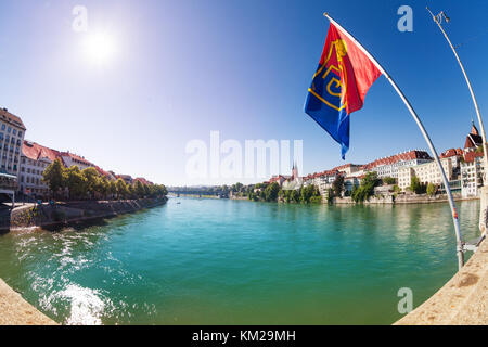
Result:
[[[97,65],[106,65],[113,61],[116,53],[116,42],[106,31],[90,33],[85,38],[85,53]]]

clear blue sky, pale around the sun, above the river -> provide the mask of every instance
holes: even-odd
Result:
[[[89,33],[116,42],[103,66],[81,50],[87,34],[72,29],[77,4]],[[413,9],[413,33],[397,29],[402,4]],[[235,181],[185,177],[187,143],[208,143],[211,130],[242,142],[304,140],[305,174],[329,169],[344,163],[339,145],[303,111],[326,11],[395,78],[441,152],[464,144],[475,111],[426,4],[446,10],[452,41],[465,42],[459,54],[486,114],[486,1],[2,1],[0,106],[23,118],[26,139],[169,185]],[[381,77],[351,115],[346,159],[410,149],[426,144]]]

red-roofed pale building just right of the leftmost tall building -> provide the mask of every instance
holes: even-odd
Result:
[[[61,155],[36,142],[24,141],[21,156],[20,191],[35,197],[49,196],[49,188],[42,182],[44,169]]]

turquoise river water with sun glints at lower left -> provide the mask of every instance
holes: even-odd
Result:
[[[177,204],[180,202],[181,204]],[[459,203],[477,233],[478,202]],[[390,324],[457,270],[447,204],[171,198],[61,232],[0,236],[0,278],[67,324]]]

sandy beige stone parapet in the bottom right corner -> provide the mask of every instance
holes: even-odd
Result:
[[[433,297],[396,325],[488,325],[488,241]]]

